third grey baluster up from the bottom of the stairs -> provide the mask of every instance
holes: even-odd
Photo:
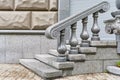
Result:
[[[82,42],[81,42],[81,47],[89,47],[90,42],[88,41],[89,38],[89,34],[87,31],[87,21],[88,21],[88,17],[82,19],[82,24],[83,24],[83,29],[82,29],[82,33],[80,35]]]

